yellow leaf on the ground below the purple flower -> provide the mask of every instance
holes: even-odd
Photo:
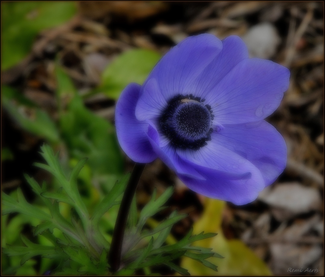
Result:
[[[200,220],[194,223],[193,234],[218,233],[218,235],[193,243],[195,246],[213,248],[224,259],[211,257],[209,262],[218,267],[214,271],[198,261],[184,257],[181,267],[191,275],[272,275],[263,260],[238,239],[227,240],[222,233],[221,220],[225,202],[215,199],[206,199],[205,210]]]

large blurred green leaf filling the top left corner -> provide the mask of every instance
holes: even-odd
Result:
[[[31,51],[36,35],[58,26],[76,13],[74,2],[4,2],[2,10],[2,61],[6,70]]]

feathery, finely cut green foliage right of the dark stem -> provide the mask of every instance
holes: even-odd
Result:
[[[189,275],[186,269],[175,263],[175,259],[178,259],[183,255],[195,259],[203,265],[217,271],[217,267],[205,259],[209,257],[223,258],[222,256],[212,252],[209,248],[191,246],[191,243],[194,241],[213,237],[216,234],[203,234],[202,232],[199,235],[191,235],[191,229],[188,234],[177,243],[172,245],[164,244],[173,225],[185,218],[187,216],[186,214],[177,214],[177,212],[174,211],[165,221],[158,224],[156,228],[152,230],[143,229],[143,226],[149,217],[164,209],[162,205],[171,197],[172,194],[173,188],[169,187],[159,198],[155,199],[156,191],[154,191],[152,198],[140,212],[137,223],[135,220],[132,220],[133,226],[131,226],[124,237],[122,249],[124,255],[122,260],[125,267],[120,273],[130,274],[130,272],[133,272],[132,270],[164,264],[182,275]],[[131,208],[130,214],[132,213]],[[144,247],[137,247],[137,245],[141,245],[140,242],[145,239],[149,240],[149,243]]]

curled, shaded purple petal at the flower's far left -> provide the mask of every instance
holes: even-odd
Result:
[[[148,123],[136,119],[135,107],[141,86],[131,83],[122,91],[115,108],[116,134],[123,151],[137,163],[157,158],[147,137]]]

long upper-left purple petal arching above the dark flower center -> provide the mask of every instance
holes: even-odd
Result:
[[[178,93],[190,94],[193,80],[220,53],[222,42],[211,34],[188,37],[165,54],[143,84],[136,117],[154,116]],[[152,81],[152,79],[156,80]],[[148,87],[147,87],[148,86]],[[159,88],[159,89],[158,89]]]

